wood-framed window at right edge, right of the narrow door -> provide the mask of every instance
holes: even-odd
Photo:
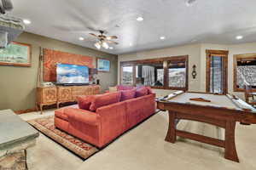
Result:
[[[256,54],[234,55],[234,90],[243,91],[244,85],[256,90]]]

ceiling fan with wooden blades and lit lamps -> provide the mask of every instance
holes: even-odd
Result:
[[[118,37],[116,37],[116,36],[105,36],[104,31],[102,31],[102,30],[100,30],[99,32],[100,32],[99,35],[96,35],[94,33],[89,33],[90,36],[93,36],[93,37],[97,38],[97,42],[94,44],[96,48],[98,48],[98,49],[101,49],[101,48],[108,49],[108,48],[110,48],[108,43],[115,44],[115,45],[119,44],[118,42],[113,41],[113,39],[118,39]]]

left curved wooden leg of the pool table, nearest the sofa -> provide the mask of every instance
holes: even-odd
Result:
[[[175,122],[176,113],[169,111],[169,127],[166,134],[166,141],[175,143],[176,142],[176,122]]]

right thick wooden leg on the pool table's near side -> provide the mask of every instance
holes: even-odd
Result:
[[[239,162],[236,143],[235,143],[235,121],[227,121],[225,127],[225,155],[224,157],[231,161]]]

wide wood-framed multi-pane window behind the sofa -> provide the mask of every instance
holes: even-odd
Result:
[[[188,89],[188,56],[134,60],[121,62],[120,65],[123,72],[120,74],[122,84],[174,90]],[[127,67],[130,70],[129,78],[124,74]],[[134,75],[132,71],[135,72]]]

